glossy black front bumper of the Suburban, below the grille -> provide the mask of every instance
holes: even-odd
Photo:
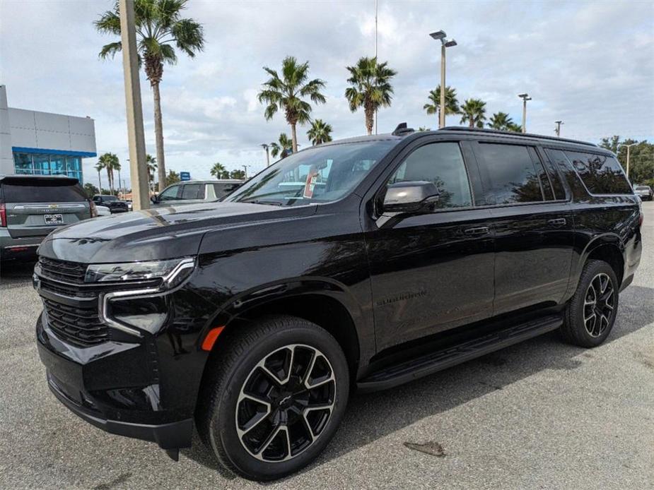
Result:
[[[39,356],[50,390],[69,410],[111,434],[153,441],[167,450],[191,446],[193,419],[161,406],[146,344],[74,347],[49,330],[44,316],[36,325]]]

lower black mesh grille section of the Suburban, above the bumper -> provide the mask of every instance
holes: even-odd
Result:
[[[89,346],[109,339],[109,328],[100,322],[98,305],[76,308],[43,298],[48,325],[54,333],[76,345]]]

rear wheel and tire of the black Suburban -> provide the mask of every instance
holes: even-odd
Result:
[[[588,261],[564,311],[564,340],[587,348],[602,344],[615,323],[618,303],[619,287],[613,268],[604,261]]]

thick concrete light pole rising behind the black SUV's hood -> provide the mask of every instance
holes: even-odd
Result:
[[[134,28],[134,0],[119,0],[118,10],[125,78],[125,104],[127,106],[129,177],[132,181],[132,206],[136,211],[149,208],[150,198],[143,130],[143,107],[141,107],[141,83],[139,81],[139,54],[136,52],[136,30]]]

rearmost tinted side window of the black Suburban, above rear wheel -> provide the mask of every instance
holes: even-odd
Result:
[[[564,152],[592,194],[631,194],[631,186],[614,157]]]

